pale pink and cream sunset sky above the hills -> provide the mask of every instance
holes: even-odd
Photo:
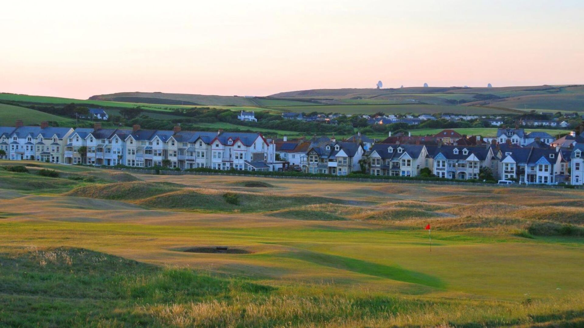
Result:
[[[0,92],[584,83],[584,1],[6,1]]]

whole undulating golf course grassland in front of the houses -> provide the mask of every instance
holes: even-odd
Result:
[[[0,161],[0,165],[8,163],[14,162]],[[584,310],[575,301],[584,289],[584,235],[578,233],[584,225],[584,218],[578,215],[584,202],[582,190],[134,174],[134,179],[124,177],[127,182],[116,182],[117,175],[126,173],[62,167],[63,177],[58,179],[0,169],[0,183],[11,177],[36,183],[38,179],[49,184],[70,182],[58,190],[19,189],[11,184],[11,189],[4,187],[0,192],[0,253],[4,253],[0,268],[13,281],[0,284],[0,303],[4,308],[14,304],[8,306],[8,312],[0,310],[0,322],[15,317],[11,314],[25,316],[27,302],[40,295],[44,295],[40,307],[26,315],[48,309],[43,305],[47,302],[65,304],[76,298],[93,304],[93,299],[102,299],[93,312],[79,304],[74,308],[84,317],[98,316],[103,324],[113,319],[135,323],[140,318],[151,326],[179,325],[180,320],[189,323],[186,326],[195,322],[221,326],[224,320],[232,326],[264,327],[286,322],[290,326],[450,323],[496,327],[576,324],[578,313]],[[94,176],[96,181],[69,179],[68,174],[75,179]],[[180,198],[166,206],[159,199],[156,207],[144,201],[203,190],[214,198]],[[227,202],[226,193],[237,194],[241,203],[221,205]],[[295,201],[296,197],[301,198]],[[221,206],[210,208],[211,202]],[[531,210],[534,206],[540,210]],[[426,224],[433,228],[432,252],[423,229]],[[534,224],[570,225],[572,232],[542,235]],[[520,236],[519,231],[527,234]],[[31,250],[33,246],[40,253]],[[246,252],[180,251],[214,246]],[[53,251],[46,247],[65,248],[55,251],[61,253],[52,260],[53,255],[44,252]],[[120,271],[121,276],[92,275],[87,272],[102,272],[95,267],[99,263],[118,270],[113,263],[120,260],[88,251],[84,256],[84,251],[69,247],[138,264],[132,264],[135,268],[130,271]],[[102,257],[103,261],[92,260]],[[11,271],[16,267],[10,263],[26,267],[29,287],[25,288],[22,275]],[[41,277],[49,273],[57,278],[43,282]],[[76,282],[83,275],[95,279]],[[200,292],[205,290],[204,284],[199,287],[194,281],[207,281],[208,275],[230,277],[220,278],[219,285],[227,289]],[[142,277],[139,281],[143,283],[135,285],[135,276]],[[99,277],[104,279],[98,281]],[[123,282],[116,282],[117,287],[110,285],[120,279]],[[213,285],[213,279],[207,283]],[[110,294],[103,298],[91,293],[42,292],[42,288],[53,290],[57,281],[83,283]],[[228,287],[248,283],[255,287]],[[158,294],[149,294],[150,288]],[[453,301],[461,298],[466,301]],[[286,303],[286,299],[296,301]],[[206,314],[192,308],[190,302],[206,306]],[[262,308],[262,314],[255,316],[253,311],[237,312],[233,306],[238,302],[253,311],[260,304],[273,306]],[[359,304],[368,304],[370,312],[362,312]],[[298,315],[288,316],[290,313],[277,308]],[[64,310],[57,312],[66,317]],[[202,317],[207,321],[197,321]],[[36,316],[32,322],[42,319]],[[72,317],[69,320],[74,326],[84,325]]]

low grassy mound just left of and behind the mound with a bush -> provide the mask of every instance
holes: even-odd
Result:
[[[180,189],[174,183],[120,182],[109,184],[91,184],[78,187],[64,196],[89,197],[109,200],[138,200]]]

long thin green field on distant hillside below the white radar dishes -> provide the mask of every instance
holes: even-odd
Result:
[[[386,114],[433,114],[433,113],[455,113],[455,114],[509,114],[511,111],[504,109],[492,109],[472,106],[440,106],[431,104],[395,104],[395,105],[325,105],[325,106],[279,106],[269,107],[281,111],[293,111],[296,113],[310,113],[319,111],[324,113],[340,114],[374,114],[383,111]]]

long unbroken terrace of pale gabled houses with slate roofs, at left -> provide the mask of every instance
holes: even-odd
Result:
[[[218,170],[281,169],[275,145],[260,133],[23,126],[0,127],[0,149],[11,160],[89,165]],[[80,152],[85,149],[86,152]]]

